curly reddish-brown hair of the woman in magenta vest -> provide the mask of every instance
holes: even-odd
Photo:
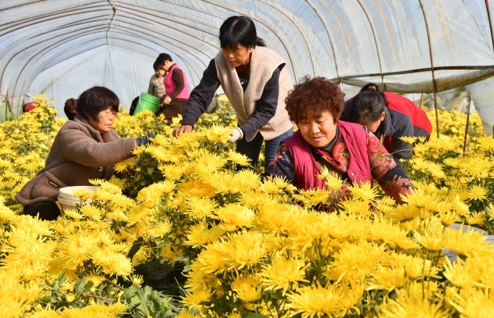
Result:
[[[324,111],[331,113],[336,124],[345,106],[344,96],[340,87],[331,80],[322,77],[310,79],[310,76],[306,75],[288,93],[285,104],[290,120],[295,124],[302,120],[318,118]]]

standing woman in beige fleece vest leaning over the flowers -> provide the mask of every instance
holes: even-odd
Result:
[[[285,98],[293,88],[286,62],[278,53],[265,48],[248,17],[229,17],[220,27],[219,38],[221,51],[211,59],[199,85],[190,94],[182,126],[173,134],[192,131],[221,85],[238,122],[226,145],[237,142],[237,152],[245,154],[255,166],[265,139],[267,167],[280,141],[293,133],[293,123],[285,109]]]

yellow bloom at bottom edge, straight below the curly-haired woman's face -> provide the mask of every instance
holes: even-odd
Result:
[[[287,308],[293,310],[291,315],[302,318],[340,317],[347,310],[343,306],[344,297],[344,289],[338,284],[328,284],[325,288],[320,284],[304,286],[294,294],[287,294],[290,299]]]

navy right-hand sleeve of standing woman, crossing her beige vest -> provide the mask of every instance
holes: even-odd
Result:
[[[280,94],[280,70],[283,66],[276,68],[271,78],[264,85],[261,98],[255,103],[255,110],[245,124],[240,128],[244,133],[252,133],[266,126],[276,114],[278,107],[278,96]]]

